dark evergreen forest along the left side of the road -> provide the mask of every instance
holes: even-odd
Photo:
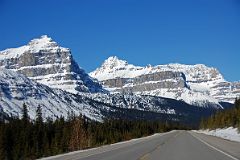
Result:
[[[42,109],[30,120],[24,104],[21,118],[0,121],[0,159],[36,159],[116,143],[185,126],[169,121],[92,121],[69,114],[65,119],[43,120]]]

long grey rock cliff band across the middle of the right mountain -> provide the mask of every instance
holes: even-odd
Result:
[[[135,78],[108,79],[102,81],[108,88],[115,88],[116,92],[132,93],[155,90],[156,88],[184,88],[186,87],[185,76],[181,72],[157,72],[140,75]]]

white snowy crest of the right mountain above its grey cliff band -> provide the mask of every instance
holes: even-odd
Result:
[[[210,79],[224,81],[222,75],[215,68],[210,68],[203,64],[184,65],[172,63],[167,65],[148,65],[146,67],[140,67],[128,64],[127,61],[120,60],[116,56],[109,57],[104,61],[100,68],[97,68],[89,74],[90,76],[97,78],[99,81],[103,81],[117,77],[134,78],[140,75],[162,71],[183,72],[186,75],[187,81],[198,81],[199,79],[204,79],[205,81]]]

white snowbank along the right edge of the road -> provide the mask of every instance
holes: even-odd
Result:
[[[240,133],[237,128],[229,127],[229,128],[218,128],[215,130],[199,130],[195,131],[198,133],[203,133],[207,135],[212,135],[220,138],[224,138],[231,141],[240,142]]]

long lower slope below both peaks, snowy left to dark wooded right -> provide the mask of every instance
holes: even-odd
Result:
[[[72,94],[52,89],[30,80],[15,71],[0,69],[0,118],[1,115],[21,116],[22,105],[28,106],[31,119],[41,106],[43,117],[85,115],[102,121],[104,118],[194,121],[209,115],[220,105],[211,104],[210,109],[199,110],[181,101],[152,96],[130,94],[81,93]]]

